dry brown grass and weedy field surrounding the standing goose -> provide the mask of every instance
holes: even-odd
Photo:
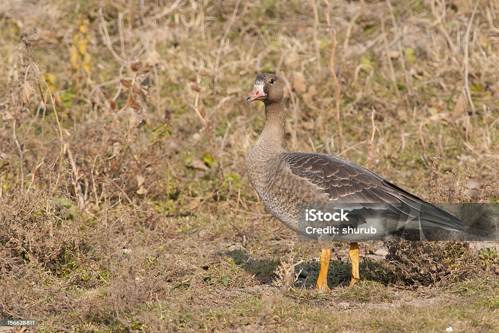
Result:
[[[363,243],[353,288],[338,243],[318,293],[319,247],[245,174],[264,122],[246,97],[276,72],[289,150],[432,202],[498,202],[498,17],[471,0],[4,1],[0,317],[39,332],[499,331],[497,243]]]

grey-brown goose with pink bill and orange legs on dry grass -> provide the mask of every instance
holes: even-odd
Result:
[[[426,207],[431,229],[463,231],[453,215],[427,203],[360,165],[336,156],[287,152],[284,140],[283,88],[275,74],[256,76],[248,102],[265,104],[265,125],[247,159],[247,174],[265,208],[280,222],[300,233],[299,204],[303,203],[400,203]],[[419,206],[418,206],[419,205]],[[306,236],[306,235],[305,235]],[[350,286],[359,282],[358,241],[349,240]],[[320,239],[319,239],[320,241]],[[327,271],[331,259],[329,241],[321,241],[318,290],[329,291]]]

